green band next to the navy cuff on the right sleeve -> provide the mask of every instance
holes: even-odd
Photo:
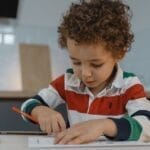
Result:
[[[131,126],[131,133],[130,137],[128,138],[129,141],[137,141],[140,138],[141,132],[142,132],[142,126],[134,119],[129,116],[125,116],[125,119],[127,119]]]

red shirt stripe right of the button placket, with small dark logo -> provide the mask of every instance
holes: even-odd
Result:
[[[129,100],[145,97],[144,88],[140,84],[130,87],[124,94],[96,98],[90,106],[90,114],[120,115],[126,112],[125,106]]]

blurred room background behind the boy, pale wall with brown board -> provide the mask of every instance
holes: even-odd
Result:
[[[32,96],[70,66],[57,27],[73,1],[0,1],[0,97]],[[150,91],[150,0],[124,2],[133,11],[135,42],[121,66]]]

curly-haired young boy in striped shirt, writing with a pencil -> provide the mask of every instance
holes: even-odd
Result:
[[[22,105],[58,144],[80,144],[102,135],[113,140],[150,140],[150,102],[144,87],[118,62],[133,42],[129,7],[121,0],[72,3],[58,27],[72,69]],[[70,128],[60,113],[68,107]],[[27,118],[25,118],[27,119]]]

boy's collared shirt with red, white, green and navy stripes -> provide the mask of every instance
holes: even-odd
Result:
[[[31,113],[37,105],[55,108],[61,103],[67,104],[70,125],[111,118],[118,129],[113,140],[150,140],[150,102],[144,87],[137,76],[124,72],[119,65],[113,82],[97,95],[93,95],[73,70],[68,69],[48,88],[25,101],[21,109]]]

